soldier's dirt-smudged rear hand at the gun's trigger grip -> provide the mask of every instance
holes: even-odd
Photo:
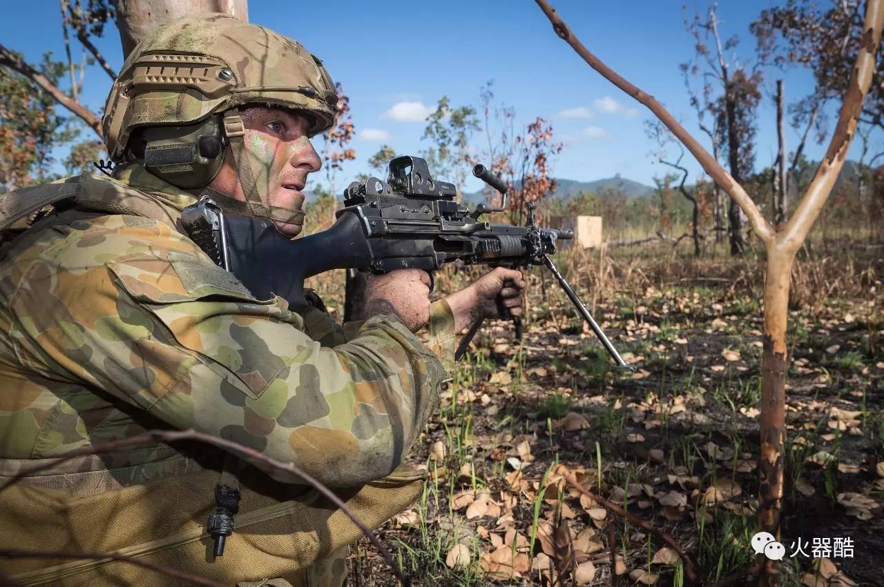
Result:
[[[396,269],[370,275],[365,288],[365,317],[394,316],[412,332],[430,320],[430,274],[421,269]]]

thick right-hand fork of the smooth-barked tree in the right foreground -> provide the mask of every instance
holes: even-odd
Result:
[[[865,5],[865,23],[859,39],[857,62],[850,73],[847,94],[835,125],[834,135],[829,143],[826,156],[819,162],[811,184],[804,192],[804,198],[798,203],[795,214],[786,223],[779,245],[786,252],[796,252],[804,243],[804,237],[811,230],[819,211],[832,192],[834,181],[841,172],[853,133],[857,130],[857,122],[863,107],[865,94],[872,85],[875,70],[875,55],[878,52],[881,38],[881,26],[884,26],[884,0],[868,0]]]

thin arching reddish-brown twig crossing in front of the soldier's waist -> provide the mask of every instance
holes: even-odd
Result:
[[[362,523],[362,520],[360,520],[353,513],[353,511],[347,507],[347,504],[344,503],[344,501],[342,501],[335,493],[332,493],[328,487],[317,481],[315,478],[311,477],[308,473],[301,470],[300,467],[298,467],[294,463],[283,463],[281,461],[277,461],[270,456],[258,452],[254,448],[245,447],[238,442],[217,438],[216,436],[197,432],[195,430],[150,430],[146,433],[141,433],[137,436],[133,436],[132,438],[113,440],[111,442],[105,442],[104,444],[95,446],[93,448],[81,448],[80,450],[74,450],[70,453],[67,453],[66,455],[58,457],[56,460],[51,461],[50,463],[42,463],[31,469],[19,471],[19,473],[12,476],[8,482],[0,486],[0,493],[3,493],[6,488],[17,483],[22,478],[33,476],[34,473],[40,472],[42,470],[51,469],[58,464],[66,463],[67,461],[71,461],[72,459],[78,458],[80,456],[95,455],[99,453],[115,451],[119,448],[144,444],[145,442],[149,442],[150,440],[160,440],[161,442],[165,442],[167,444],[180,442],[182,440],[196,440],[198,442],[210,444],[214,447],[224,448],[227,452],[230,452],[234,455],[246,457],[252,462],[258,461],[264,463],[270,466],[273,470],[285,471],[296,477],[300,477],[304,480],[305,483],[307,483],[308,485],[312,485],[317,492],[322,493],[322,495],[327,500],[330,500],[331,503],[340,508],[341,511],[343,511],[347,515],[347,517],[350,518],[353,523],[359,527],[366,538],[369,538],[372,544],[377,547],[377,552],[381,554],[387,565],[392,568],[392,572],[396,575],[396,578],[400,580],[400,583],[406,586],[411,584],[408,577],[402,573],[399,566],[396,564],[395,561],[393,561],[392,554],[390,554],[384,547],[384,545],[381,544],[375,533],[371,531],[368,526]]]

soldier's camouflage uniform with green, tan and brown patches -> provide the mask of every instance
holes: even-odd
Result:
[[[359,487],[400,464],[437,403],[440,358],[453,356],[444,301],[431,306],[429,349],[390,316],[341,328],[319,309],[255,299],[214,265],[178,223],[194,203],[190,192],[137,165],[119,166],[114,179],[76,181],[75,207],[37,221],[3,251],[0,484],[42,459],[157,427],[235,440],[331,487]],[[27,481],[53,495],[100,498],[217,464],[205,449],[157,443],[85,456]],[[251,474],[256,485],[273,484],[262,475]],[[297,481],[271,476],[283,493]],[[415,494],[391,490],[387,505],[405,508]],[[0,509],[13,507],[4,497]],[[212,505],[210,494],[194,499]],[[199,516],[194,523],[204,524]],[[2,534],[4,546],[20,544]],[[316,555],[330,552],[317,547]],[[286,576],[297,583],[302,573],[297,563]]]

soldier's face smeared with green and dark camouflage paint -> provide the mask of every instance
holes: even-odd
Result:
[[[240,116],[246,128],[246,153],[258,195],[270,206],[300,210],[307,174],[322,165],[307,135],[309,121],[286,110],[263,107],[240,109]],[[246,200],[230,149],[210,185],[233,198]],[[301,224],[274,223],[290,237],[301,231]]]

